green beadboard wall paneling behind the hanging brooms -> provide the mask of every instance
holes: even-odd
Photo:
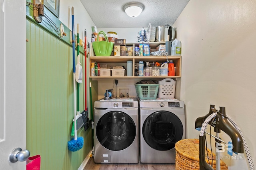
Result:
[[[31,20],[26,28],[27,149],[31,156],[41,155],[41,170],[77,170],[92,149],[92,129],[78,131],[84,137],[81,150],[68,150],[74,118],[72,46]],[[80,60],[84,63],[84,55]]]

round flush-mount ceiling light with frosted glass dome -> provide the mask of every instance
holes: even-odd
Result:
[[[123,6],[123,10],[129,17],[135,18],[144,10],[144,5],[139,2],[129,2]]]

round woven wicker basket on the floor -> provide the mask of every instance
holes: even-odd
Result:
[[[199,170],[199,139],[183,139],[175,144],[176,149],[176,170]],[[208,156],[207,156],[208,152]],[[206,162],[212,164],[215,169],[216,160],[215,154],[213,154],[214,160],[212,161],[211,151],[205,150]],[[209,160],[208,160],[209,157]],[[209,163],[210,161],[210,163]],[[220,160],[220,169],[227,170],[225,162]]]

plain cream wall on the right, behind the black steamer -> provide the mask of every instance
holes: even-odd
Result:
[[[173,26],[182,42],[180,99],[186,104],[187,137],[198,138],[194,120],[206,115],[210,104],[226,107],[256,166],[255,9],[252,0],[191,0]],[[229,170],[249,169],[246,154],[240,155],[242,160],[224,160]]]

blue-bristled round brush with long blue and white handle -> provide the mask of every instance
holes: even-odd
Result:
[[[74,7],[72,7],[72,47],[73,47],[73,89],[74,89],[74,127],[76,127],[76,71],[75,71],[75,35],[74,35]],[[84,146],[84,138],[77,137],[76,128],[75,136],[68,141],[68,150],[75,152]]]

